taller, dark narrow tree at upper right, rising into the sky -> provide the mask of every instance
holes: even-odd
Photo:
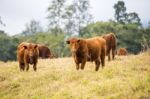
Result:
[[[117,22],[125,23],[127,16],[125,3],[123,1],[118,1],[114,5],[114,9],[115,9],[115,19],[117,20]]]

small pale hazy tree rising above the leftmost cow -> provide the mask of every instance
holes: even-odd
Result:
[[[42,32],[40,22],[31,20],[29,24],[26,24],[26,29],[22,32],[24,35],[32,35],[35,33]]]

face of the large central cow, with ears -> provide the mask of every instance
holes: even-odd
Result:
[[[70,50],[72,53],[76,53],[79,48],[80,39],[71,38],[66,41],[67,44],[70,44]]]

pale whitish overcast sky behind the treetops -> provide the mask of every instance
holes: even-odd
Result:
[[[0,25],[9,35],[21,33],[25,24],[32,19],[40,21],[46,27],[47,8],[51,0],[0,0],[0,16],[6,26]],[[90,0],[90,13],[94,21],[114,19],[113,6],[118,0]],[[150,0],[123,0],[127,13],[138,13],[144,26],[150,22]]]

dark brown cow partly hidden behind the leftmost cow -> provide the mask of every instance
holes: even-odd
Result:
[[[39,49],[39,57],[41,57],[42,59],[53,57],[50,49],[47,46],[38,44],[38,49]]]

